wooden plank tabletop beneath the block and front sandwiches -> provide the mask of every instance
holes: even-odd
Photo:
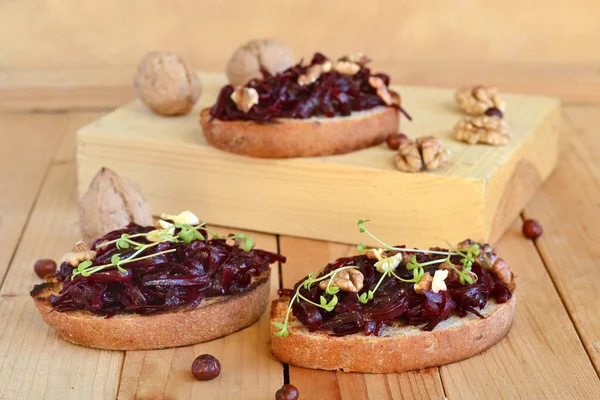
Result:
[[[1,97],[1,96],[0,96]],[[27,93],[19,93],[26,98]],[[268,399],[291,382],[306,399],[600,398],[600,105],[566,105],[559,166],[497,243],[519,287],[506,339],[469,360],[404,374],[364,375],[288,367],[268,352],[268,318],[196,346],[101,351],[60,339],[29,297],[33,263],[59,258],[78,239],[75,130],[106,109],[0,111],[0,399]],[[223,228],[226,229],[226,228]],[[271,293],[353,248],[254,234],[285,254]],[[281,279],[277,279],[281,277]],[[193,380],[193,358],[211,353],[221,376]]]

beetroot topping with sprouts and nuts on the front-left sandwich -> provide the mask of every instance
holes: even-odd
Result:
[[[204,224],[160,222],[164,229],[130,223],[92,244],[93,261],[62,263],[55,276],[63,288],[50,296],[54,309],[110,317],[195,308],[206,297],[252,289],[253,278],[269,264],[285,262],[285,257],[252,249],[245,235],[209,239]]]

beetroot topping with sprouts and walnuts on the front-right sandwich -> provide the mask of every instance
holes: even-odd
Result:
[[[353,333],[380,336],[386,326],[398,323],[431,331],[451,315],[464,317],[471,313],[483,318],[479,310],[490,299],[506,302],[512,296],[514,285],[503,283],[482,265],[484,256],[492,254],[491,250],[484,254],[479,252],[479,244],[463,243],[471,247],[464,252],[456,250],[460,254],[444,255],[441,253],[449,251],[439,248],[430,250],[439,254],[431,254],[393,247],[397,250],[379,253],[371,250],[367,255],[340,258],[318,274],[298,282],[293,291],[282,290],[280,295],[292,297],[297,292],[299,301],[294,301],[292,314],[310,331],[329,331],[334,336]],[[489,246],[481,248],[488,250]],[[497,257],[495,253],[493,256]],[[348,267],[362,275],[357,292],[342,289],[344,282],[335,287],[339,275]],[[422,271],[418,272],[419,268]],[[340,272],[331,279],[319,280],[336,270]],[[414,278],[417,275],[418,278]],[[438,279],[440,277],[442,279]],[[422,279],[427,285],[415,285]],[[274,325],[281,329],[276,335],[288,335],[287,320],[286,324]]]

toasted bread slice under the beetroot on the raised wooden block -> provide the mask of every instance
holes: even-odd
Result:
[[[345,154],[374,146],[398,132],[394,107],[379,106],[348,117],[281,119],[275,123],[210,119],[200,112],[200,124],[211,146],[260,158],[314,157]]]

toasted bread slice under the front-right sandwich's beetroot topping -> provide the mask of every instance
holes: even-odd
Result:
[[[283,323],[288,300],[273,301],[272,322]],[[482,310],[486,319],[453,316],[431,332],[420,327],[395,327],[395,332],[382,337],[311,333],[290,316],[288,337],[275,336],[278,329],[271,325],[271,352],[284,363],[346,372],[395,373],[449,364],[479,354],[502,340],[512,325],[515,302],[513,293],[504,304],[490,300]]]

